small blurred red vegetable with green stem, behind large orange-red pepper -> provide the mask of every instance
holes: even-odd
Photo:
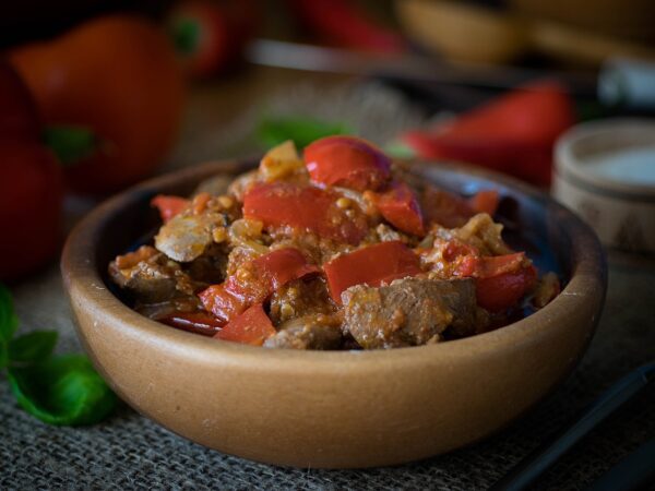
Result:
[[[260,23],[254,0],[182,0],[168,29],[187,74],[204,79],[237,64]]]

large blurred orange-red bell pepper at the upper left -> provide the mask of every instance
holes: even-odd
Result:
[[[64,161],[76,191],[116,191],[145,177],[170,151],[183,84],[169,39],[150,21],[98,17],[57,39],[19,47],[10,60],[44,122],[68,127],[55,140],[90,144]]]

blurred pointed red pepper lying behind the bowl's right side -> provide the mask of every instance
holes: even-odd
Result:
[[[574,122],[573,101],[563,87],[539,83],[402,139],[425,159],[467,161],[549,185],[552,146]]]

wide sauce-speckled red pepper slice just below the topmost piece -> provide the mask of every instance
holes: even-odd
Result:
[[[336,205],[338,197],[329,190],[290,182],[259,184],[243,197],[243,216],[261,220],[266,227],[290,226],[358,244],[368,232],[366,217],[348,217]]]

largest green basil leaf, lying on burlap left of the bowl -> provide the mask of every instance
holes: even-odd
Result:
[[[21,407],[49,424],[94,424],[116,407],[116,395],[82,355],[10,368],[9,383]]]

